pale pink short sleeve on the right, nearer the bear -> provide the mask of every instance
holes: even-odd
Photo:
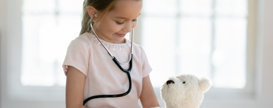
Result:
[[[140,46],[141,47],[141,46]],[[148,76],[153,70],[148,62],[144,49],[141,47],[142,77]]]

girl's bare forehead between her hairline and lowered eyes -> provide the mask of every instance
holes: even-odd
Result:
[[[141,9],[142,0],[120,0],[109,13],[114,17],[136,18]]]

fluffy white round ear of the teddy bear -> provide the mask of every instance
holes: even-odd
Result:
[[[202,77],[199,79],[199,87],[203,93],[207,92],[212,85],[212,81],[209,78]]]

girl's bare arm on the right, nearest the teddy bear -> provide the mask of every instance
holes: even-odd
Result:
[[[143,108],[150,108],[160,106],[159,102],[154,93],[154,88],[150,81],[149,75],[143,78],[142,81],[142,92],[140,95],[140,101]]]

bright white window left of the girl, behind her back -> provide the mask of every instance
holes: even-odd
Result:
[[[65,86],[61,66],[70,41],[79,35],[82,3],[83,0],[23,1],[23,86]]]

